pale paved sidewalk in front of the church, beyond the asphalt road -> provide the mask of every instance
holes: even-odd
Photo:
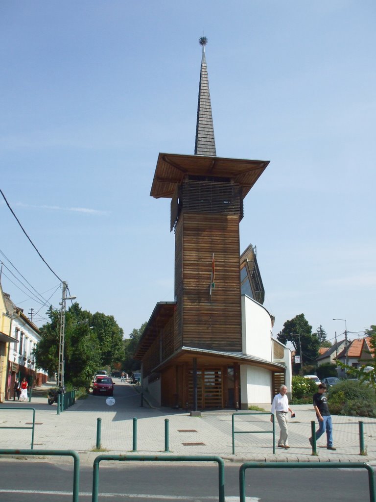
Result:
[[[124,384],[118,384],[117,387]],[[48,388],[48,386],[44,386]],[[336,451],[326,449],[326,437],[317,444],[317,456],[312,455],[308,442],[311,421],[315,420],[313,407],[293,406],[295,419],[289,422],[290,449],[277,448],[279,428],[276,423],[276,453],[273,454],[270,433],[237,434],[235,455],[232,454],[232,414],[234,411],[204,411],[201,417],[191,417],[185,410],[150,408],[130,385],[121,390],[116,403],[106,405],[104,397],[88,396],[57,415],[57,406],[49,406],[47,398],[32,397],[31,403],[8,401],[0,405],[0,426],[25,426],[32,422],[36,409],[34,449],[75,450],[81,462],[91,464],[100,454],[132,455],[133,418],[137,418],[137,454],[164,455],[165,419],[169,424],[169,450],[174,455],[219,455],[232,462],[368,462],[376,465],[376,419],[333,416],[333,437]],[[2,410],[4,407],[18,411]],[[266,411],[270,405],[263,405]],[[101,419],[101,445],[105,451],[96,452],[97,419]],[[366,456],[359,455],[358,422],[364,424]],[[238,415],[235,430],[270,431],[269,415]],[[28,449],[31,430],[0,429],[2,448]],[[5,457],[2,457],[5,458]],[[46,457],[47,458],[47,457]],[[57,457],[54,457],[56,461]],[[61,457],[63,461],[70,461]],[[39,459],[40,460],[40,459]]]

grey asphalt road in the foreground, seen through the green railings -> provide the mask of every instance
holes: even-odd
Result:
[[[1,502],[72,500],[72,466],[38,461],[0,462]],[[81,467],[80,501],[91,500],[92,468]],[[239,465],[225,467],[226,499],[239,500]],[[218,500],[217,465],[150,462],[100,466],[99,500],[186,502]],[[247,500],[260,502],[353,502],[369,500],[365,471],[271,469],[246,472]],[[228,498],[231,497],[231,498]]]

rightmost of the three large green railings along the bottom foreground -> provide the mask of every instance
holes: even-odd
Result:
[[[365,462],[245,462],[239,469],[240,502],[246,502],[246,469],[367,469],[369,501],[376,502],[373,477],[374,471],[372,467]]]

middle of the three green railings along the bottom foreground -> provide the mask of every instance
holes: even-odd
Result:
[[[217,462],[218,463],[218,500],[225,502],[225,462],[221,457],[216,455],[99,455],[93,464],[93,494],[92,502],[98,502],[98,487],[99,487],[99,462],[102,460],[118,460],[141,462]],[[185,490],[184,490],[185,493]]]

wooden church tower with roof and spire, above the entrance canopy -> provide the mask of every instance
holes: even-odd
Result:
[[[176,347],[241,351],[239,222],[268,162],[216,156],[206,38],[200,42],[195,155],[159,154],[150,195],[171,198]]]

